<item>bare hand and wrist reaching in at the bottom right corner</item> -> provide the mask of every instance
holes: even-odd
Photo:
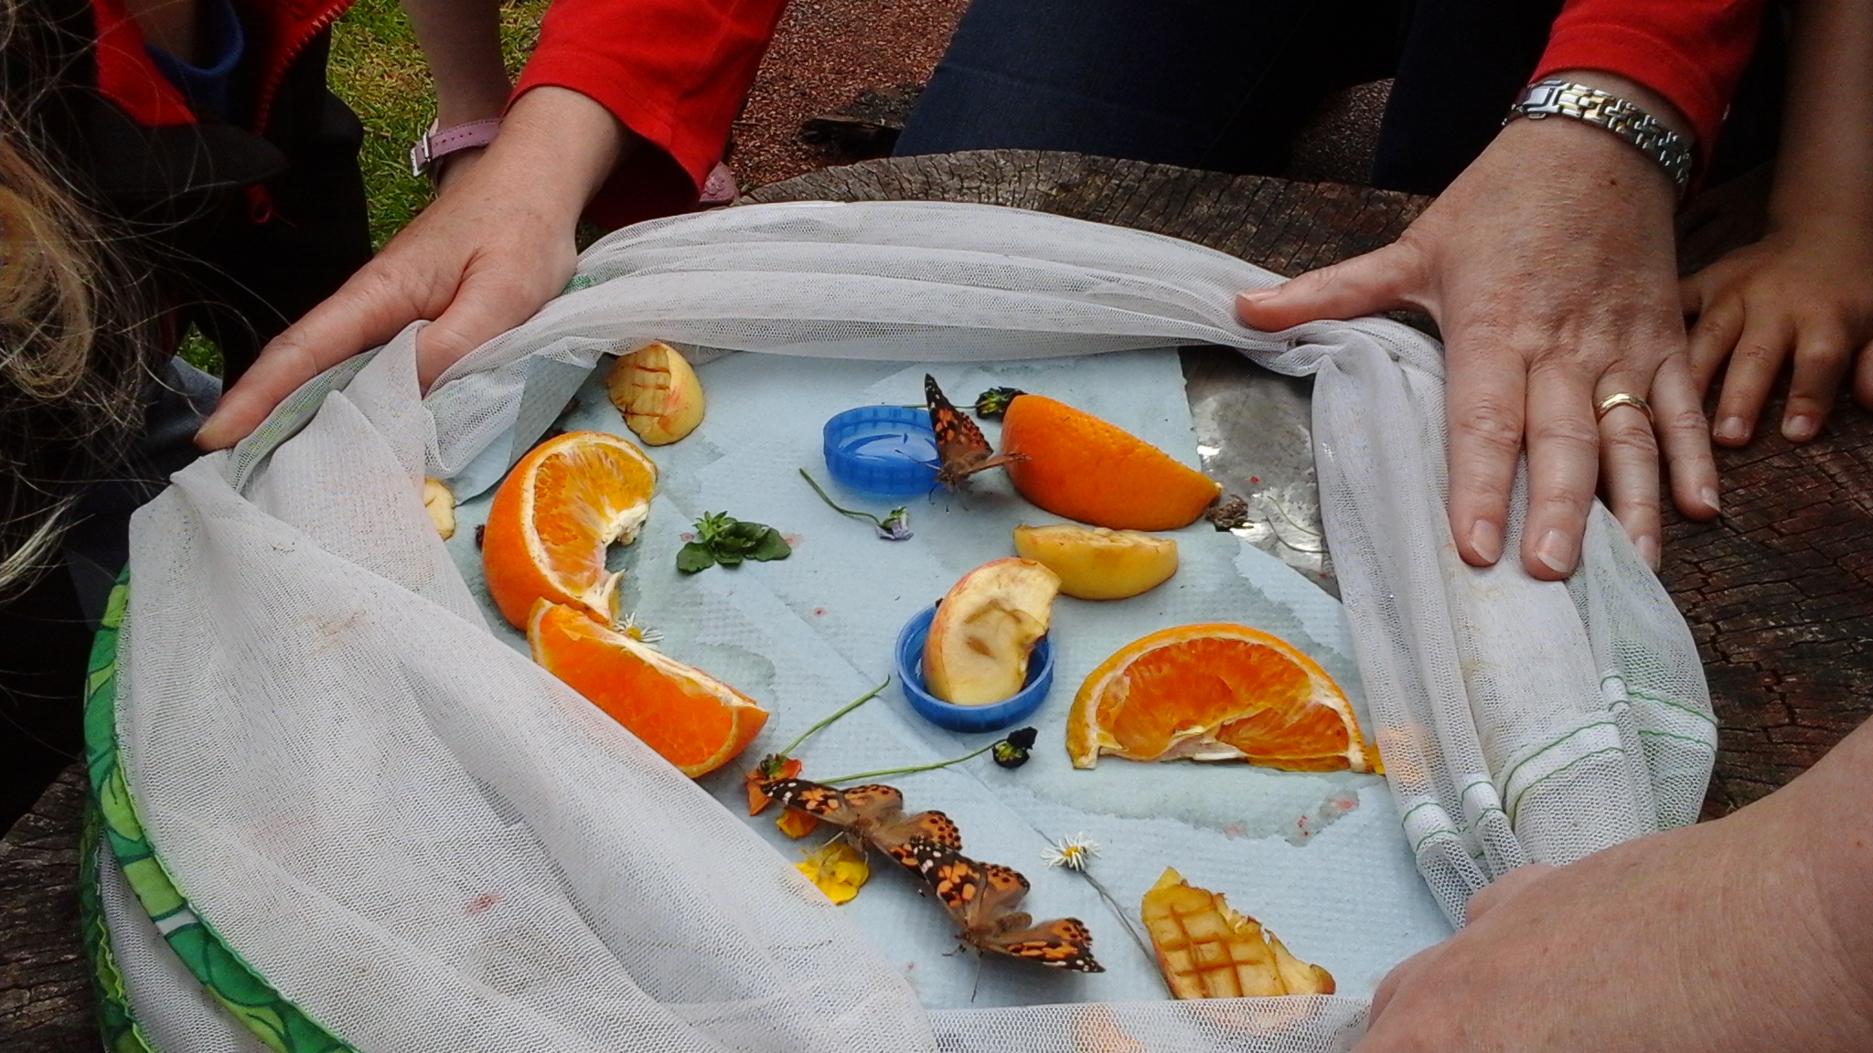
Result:
[[[1354,1053],[1873,1049],[1869,746],[1731,817],[1512,871],[1379,984]]]

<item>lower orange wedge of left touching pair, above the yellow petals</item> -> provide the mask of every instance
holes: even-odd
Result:
[[[768,710],[747,695],[575,607],[538,601],[526,643],[547,673],[691,779],[732,761],[768,723]]]

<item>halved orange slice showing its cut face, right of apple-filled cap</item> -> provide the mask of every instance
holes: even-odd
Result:
[[[1073,699],[1066,749],[1075,768],[1111,753],[1379,770],[1352,703],[1324,669],[1281,637],[1227,624],[1161,630],[1099,663]]]

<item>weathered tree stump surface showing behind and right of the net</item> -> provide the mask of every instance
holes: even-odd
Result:
[[[865,161],[749,195],[804,199],[1032,208],[1186,238],[1285,275],[1390,244],[1429,204],[1365,187],[1025,150]],[[1706,245],[1701,259],[1721,247]],[[1781,420],[1781,408],[1762,420]],[[1792,446],[1766,435],[1748,450],[1719,450],[1718,468],[1723,515],[1701,525],[1667,512],[1659,571],[1697,637],[1718,710],[1706,817],[1787,783],[1873,716],[1873,416],[1843,397],[1819,440]]]

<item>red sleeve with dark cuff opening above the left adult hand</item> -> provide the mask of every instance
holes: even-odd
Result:
[[[586,208],[601,227],[693,206],[787,0],[554,0],[515,96],[539,86],[596,99],[639,148]]]

